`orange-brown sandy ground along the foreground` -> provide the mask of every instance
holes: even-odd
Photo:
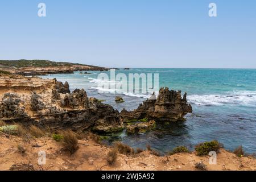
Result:
[[[18,152],[18,144],[26,149],[26,154]],[[256,170],[256,159],[239,158],[221,149],[217,164],[209,164],[209,156],[195,153],[181,153],[171,156],[155,156],[149,151],[130,156],[118,154],[116,162],[109,166],[106,156],[111,148],[92,140],[79,140],[79,150],[72,156],[61,150],[61,143],[51,138],[23,138],[0,134],[0,170],[9,170],[14,164],[28,164],[35,170],[196,170],[195,164],[203,162],[208,170]],[[46,152],[46,164],[39,166],[38,152]]]

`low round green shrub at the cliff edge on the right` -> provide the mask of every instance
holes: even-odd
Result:
[[[195,150],[197,155],[208,155],[210,151],[216,151],[218,153],[222,147],[223,145],[217,140],[212,140],[211,142],[203,142],[197,144]]]

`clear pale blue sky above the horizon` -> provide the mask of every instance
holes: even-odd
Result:
[[[39,18],[38,4],[47,16]],[[217,5],[210,18],[208,5]],[[255,0],[6,0],[0,59],[104,67],[256,68]]]

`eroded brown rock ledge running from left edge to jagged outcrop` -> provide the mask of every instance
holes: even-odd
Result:
[[[27,126],[108,133],[122,130],[123,122],[129,119],[183,121],[184,115],[192,112],[186,94],[181,98],[181,91],[168,88],[161,88],[156,100],[144,101],[138,109],[121,113],[96,98],[88,98],[84,89],[71,93],[68,82],[56,79],[0,77],[0,88],[0,119]],[[145,124],[140,128],[146,129]]]

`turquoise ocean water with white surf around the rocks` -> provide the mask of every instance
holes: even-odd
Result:
[[[187,100],[193,113],[186,115],[187,121],[158,124],[156,129],[144,134],[127,135],[125,131],[111,134],[110,142],[122,140],[132,147],[152,148],[162,154],[176,146],[193,148],[197,143],[217,139],[228,150],[242,145],[247,154],[256,153],[256,70],[255,69],[143,69],[117,70],[117,73],[158,73],[159,87],[169,87],[187,92]],[[59,74],[42,76],[68,81],[71,90],[84,88],[89,97],[105,100],[121,111],[133,110],[148,93],[98,93],[98,74]],[[109,90],[112,91],[112,90]],[[122,96],[125,102],[115,103],[115,96]]]

